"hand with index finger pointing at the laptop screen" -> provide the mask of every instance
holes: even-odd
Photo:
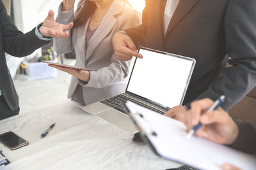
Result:
[[[129,36],[116,32],[112,38],[116,59],[131,60],[132,56],[142,59],[142,55],[137,52],[136,46]]]

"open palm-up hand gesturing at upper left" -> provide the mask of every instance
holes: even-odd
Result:
[[[40,34],[45,37],[54,38],[68,38],[68,30],[72,29],[73,22],[68,25],[59,24],[54,20],[54,12],[49,11],[48,16],[45,18],[43,25],[39,28]],[[66,31],[66,32],[64,32]]]

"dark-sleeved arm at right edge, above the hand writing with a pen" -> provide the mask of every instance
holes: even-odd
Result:
[[[229,110],[256,85],[256,1],[230,1],[225,17],[227,54],[231,57],[223,76],[213,81],[196,99],[226,96],[224,110]],[[189,104],[186,104],[188,106]]]

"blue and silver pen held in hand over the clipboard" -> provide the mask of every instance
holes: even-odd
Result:
[[[212,106],[206,111],[206,113],[208,113],[208,112],[210,112],[210,111],[212,111],[212,110],[218,109],[218,108],[221,106],[221,104],[223,104],[224,100],[225,100],[225,96],[221,96],[219,99],[217,99],[217,100],[212,104]],[[188,132],[188,135],[187,135],[186,139],[190,139],[190,138],[193,136],[193,134],[194,134],[201,126],[202,126],[201,122],[199,122],[197,125],[195,125],[195,126],[193,127],[193,129],[191,129],[191,130]]]

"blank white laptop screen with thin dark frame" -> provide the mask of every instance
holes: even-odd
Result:
[[[126,93],[164,108],[182,104],[195,59],[140,48],[143,59],[136,59]]]

